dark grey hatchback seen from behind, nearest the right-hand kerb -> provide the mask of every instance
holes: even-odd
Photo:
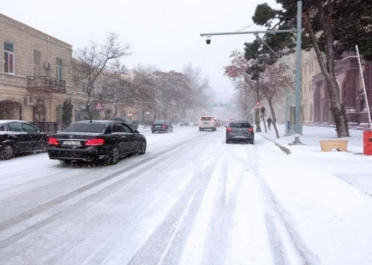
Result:
[[[226,126],[226,144],[248,142],[254,144],[253,127],[248,121],[233,121]]]

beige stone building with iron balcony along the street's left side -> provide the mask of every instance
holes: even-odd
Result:
[[[72,121],[84,119],[84,79],[73,73],[72,45],[0,13],[0,119],[22,119],[39,125],[62,125],[62,104],[72,99]],[[114,111],[114,103],[100,102],[94,91],[96,118]],[[136,118],[134,106],[120,104],[118,116]]]

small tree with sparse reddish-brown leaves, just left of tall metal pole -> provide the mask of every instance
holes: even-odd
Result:
[[[279,138],[279,132],[276,127],[276,116],[274,105],[282,99],[288,88],[293,87],[293,79],[285,74],[287,68],[284,64],[273,64],[267,66],[265,71],[259,75],[259,84],[272,114],[272,125],[275,129],[276,138]]]

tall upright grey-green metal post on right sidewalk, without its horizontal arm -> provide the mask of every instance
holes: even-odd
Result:
[[[295,141],[300,142],[300,101],[301,101],[301,34],[302,34],[302,1],[297,1],[297,46],[296,46],[296,106],[295,106]]]

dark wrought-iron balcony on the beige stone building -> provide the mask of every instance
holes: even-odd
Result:
[[[49,76],[27,76],[27,90],[44,93],[66,93],[66,81]]]

